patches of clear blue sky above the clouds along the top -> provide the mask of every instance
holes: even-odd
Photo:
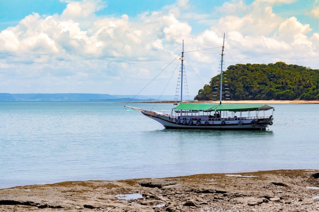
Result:
[[[65,9],[68,1],[59,0],[0,0],[0,30],[3,30],[9,26],[16,25],[25,16],[32,14],[33,12],[52,15],[61,14]],[[156,11],[166,5],[174,3],[171,0],[162,1],[149,1],[149,0],[120,0],[120,1],[104,1],[105,8],[97,12],[97,15],[101,16],[121,16],[127,14],[128,16],[137,16],[145,11]],[[200,13],[210,13],[214,11],[213,7],[222,6],[224,0],[192,0],[190,4],[194,5]],[[228,1],[231,2],[231,1]],[[252,4],[253,0],[243,1],[246,4]],[[273,5],[273,10],[276,14],[282,17],[288,18],[296,16],[299,21],[304,24],[311,24],[312,27],[318,28],[319,24],[315,23],[316,18],[311,18],[309,15],[305,15],[307,11],[311,11],[317,4],[315,1],[286,1],[292,2],[291,4],[280,3],[284,1],[278,1]],[[240,15],[240,13],[238,13]],[[194,26],[193,26],[194,27]]]

